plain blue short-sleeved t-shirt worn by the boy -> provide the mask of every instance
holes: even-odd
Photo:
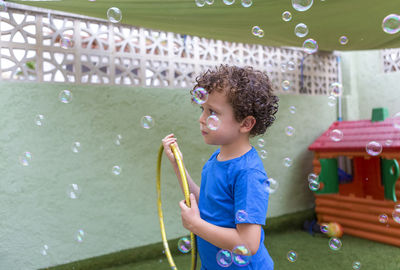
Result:
[[[214,152],[203,167],[199,196],[200,216],[216,226],[236,228],[238,223],[265,225],[268,208],[267,174],[257,150],[252,147],[243,156],[218,161],[220,149]],[[232,263],[222,267],[217,263],[221,250],[197,237],[201,270],[253,269],[272,270],[274,263],[264,246],[261,228],[260,246],[247,266]]]

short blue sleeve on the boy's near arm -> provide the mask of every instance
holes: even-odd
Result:
[[[241,171],[234,185],[235,224],[265,225],[268,196],[265,172],[255,169]]]

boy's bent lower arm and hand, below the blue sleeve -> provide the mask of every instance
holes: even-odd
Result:
[[[244,245],[251,254],[256,254],[260,245],[261,225],[237,224],[236,228],[225,228],[211,224],[200,217],[197,201],[190,197],[191,208],[184,201],[180,202],[183,226],[204,240],[221,249],[232,250]]]

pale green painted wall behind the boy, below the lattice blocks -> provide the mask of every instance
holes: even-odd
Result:
[[[70,104],[58,94],[73,93]],[[192,177],[200,183],[204,162],[216,149],[205,145],[197,122],[200,110],[189,93],[175,89],[0,82],[0,269],[37,269],[109,254],[161,241],[155,190],[156,158],[161,139],[174,132]],[[279,182],[268,216],[313,206],[307,187],[312,153],[307,146],[335,120],[324,96],[281,96],[276,123],[263,136],[264,165]],[[295,114],[289,112],[296,106]],[[35,125],[37,114],[44,125]],[[152,129],[140,119],[151,115]],[[285,135],[285,127],[296,131]],[[122,143],[114,143],[117,134]],[[253,145],[257,145],[254,138]],[[81,151],[73,153],[79,141]],[[256,146],[259,149],[258,146]],[[29,166],[18,158],[32,153]],[[290,157],[293,165],[283,166]],[[112,174],[114,165],[122,169]],[[168,161],[162,170],[162,196],[168,238],[188,232],[178,202],[182,194]],[[78,199],[68,185],[82,189]],[[84,230],[82,242],[76,240]],[[40,251],[48,245],[48,255]]]

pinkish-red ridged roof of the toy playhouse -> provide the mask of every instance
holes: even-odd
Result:
[[[382,152],[400,151],[400,129],[395,128],[394,121],[394,118],[387,118],[380,122],[371,122],[371,120],[336,121],[308,149],[317,152],[365,152],[366,145],[371,141],[376,141],[382,145]],[[396,124],[398,123],[396,122]],[[334,129],[343,133],[340,141],[331,139],[330,135]],[[391,143],[388,140],[391,140]]]

